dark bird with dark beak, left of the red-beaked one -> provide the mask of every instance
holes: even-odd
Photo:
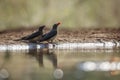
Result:
[[[42,35],[43,35],[43,29],[44,29],[45,25],[43,26],[40,26],[38,31],[30,34],[30,35],[27,35],[25,37],[22,37],[21,39],[18,39],[17,41],[19,40],[27,40],[27,41],[30,41],[30,42],[37,42],[37,40],[39,40]]]

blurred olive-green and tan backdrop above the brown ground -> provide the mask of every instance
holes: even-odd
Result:
[[[64,28],[120,28],[120,0],[0,0],[0,30],[61,22]]]

